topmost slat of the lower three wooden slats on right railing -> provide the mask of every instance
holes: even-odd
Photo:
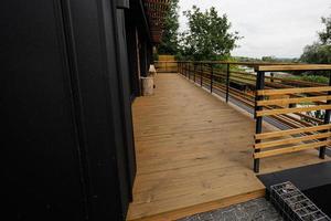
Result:
[[[331,129],[331,124],[313,126],[313,127],[303,127],[303,128],[297,128],[297,129],[269,131],[269,133],[264,133],[264,134],[256,134],[254,136],[254,138],[255,139],[269,139],[269,138],[275,138],[275,137],[284,137],[284,136],[297,135],[297,134],[301,134],[301,133],[319,131],[319,130],[324,130],[324,129]]]

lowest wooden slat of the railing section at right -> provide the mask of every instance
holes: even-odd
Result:
[[[318,148],[318,147],[328,146],[330,144],[331,144],[330,140],[317,141],[317,143],[311,143],[311,144],[307,144],[307,145],[298,145],[298,146],[273,149],[273,150],[267,150],[267,151],[261,151],[261,152],[254,152],[254,159],[271,157],[271,156],[282,155],[282,154],[290,154],[290,152],[301,151],[301,150],[306,150],[306,149],[313,149],[313,148]]]

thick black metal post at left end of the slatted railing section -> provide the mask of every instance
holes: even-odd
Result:
[[[255,87],[255,118],[256,118],[256,128],[255,128],[255,134],[260,134],[261,133],[261,126],[263,126],[263,117],[261,116],[256,116],[256,112],[261,110],[261,106],[257,106],[257,101],[263,99],[263,96],[257,95],[257,91],[264,90],[265,87],[265,72],[257,72],[257,77],[256,77],[256,87]],[[260,143],[259,139],[255,140],[256,144]],[[259,149],[254,149],[254,152],[259,152]],[[254,171],[259,172],[259,159],[254,159]]]

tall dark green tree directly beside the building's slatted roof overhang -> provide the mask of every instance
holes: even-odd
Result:
[[[159,54],[173,54],[175,55],[179,51],[179,0],[170,1],[169,12],[164,19],[164,31],[162,34],[161,43],[158,46]]]

